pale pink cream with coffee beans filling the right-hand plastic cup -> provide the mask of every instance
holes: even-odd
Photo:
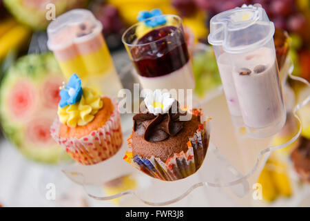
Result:
[[[248,133],[267,137],[278,132],[285,124],[286,111],[274,52],[262,47],[238,55],[233,78]]]

